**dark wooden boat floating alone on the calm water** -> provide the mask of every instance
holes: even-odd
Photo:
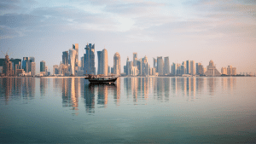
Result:
[[[111,84],[116,81],[116,79],[119,78],[118,76],[104,76],[102,74],[93,75],[93,74],[87,74],[85,79],[88,79],[91,84]]]

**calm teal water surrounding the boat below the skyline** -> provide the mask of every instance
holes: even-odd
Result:
[[[256,78],[0,78],[0,142],[255,143]]]

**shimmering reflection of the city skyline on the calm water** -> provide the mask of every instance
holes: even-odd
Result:
[[[52,79],[52,84],[51,84]],[[6,104],[12,99],[32,100],[38,95],[45,97],[51,92],[61,95],[62,107],[79,111],[79,96],[84,99],[86,112],[95,108],[108,107],[109,100],[121,105],[121,100],[131,100],[134,105],[154,101],[171,101],[172,97],[186,96],[187,101],[195,101],[204,95],[216,95],[219,87],[229,93],[236,89],[236,78],[118,78],[113,85],[88,84],[84,78],[0,78],[0,98]],[[123,95],[123,97],[121,96]],[[55,96],[55,95],[53,95]]]

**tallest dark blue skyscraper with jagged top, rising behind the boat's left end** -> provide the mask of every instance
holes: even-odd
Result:
[[[84,74],[96,74],[95,44],[91,45],[91,43],[87,43],[84,49],[86,52],[86,54],[84,54]]]

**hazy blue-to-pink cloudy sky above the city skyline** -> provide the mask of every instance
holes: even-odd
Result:
[[[96,51],[121,56],[169,56],[170,63],[195,60],[218,71],[235,66],[237,72],[256,72],[256,1],[112,1],[112,0],[1,0],[0,49],[10,48],[11,58],[34,56],[52,66],[60,64],[62,51],[86,43]],[[3,54],[1,56],[3,58]],[[97,67],[97,56],[96,56]]]

